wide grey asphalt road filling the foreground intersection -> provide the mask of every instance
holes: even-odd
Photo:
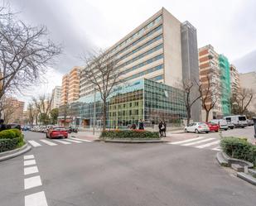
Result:
[[[26,132],[26,138],[41,142],[45,135]],[[41,199],[41,206],[46,205],[44,198],[48,206],[256,203],[256,187],[220,167],[217,151],[163,143],[52,142],[56,145],[41,142],[26,154],[33,155],[34,165],[24,166],[23,156],[0,162],[1,206],[35,206],[30,200],[24,202],[33,194]],[[24,168],[35,165],[38,172],[24,175]],[[24,180],[29,178],[33,180]]]

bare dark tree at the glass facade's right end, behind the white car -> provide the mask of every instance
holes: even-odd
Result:
[[[198,84],[195,84],[195,82],[191,81],[191,79],[183,80],[182,86],[184,90],[183,99],[186,105],[186,125],[189,125],[191,121],[191,108],[193,104],[200,99],[201,93],[198,93],[196,97],[191,96],[192,90],[199,87]]]

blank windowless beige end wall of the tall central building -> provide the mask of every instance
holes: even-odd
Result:
[[[162,8],[164,41],[164,83],[181,89],[181,22]]]

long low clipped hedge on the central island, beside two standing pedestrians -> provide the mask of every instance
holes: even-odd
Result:
[[[159,139],[158,132],[144,130],[114,130],[102,132],[100,138],[109,139]]]

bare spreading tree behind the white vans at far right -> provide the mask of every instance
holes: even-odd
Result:
[[[244,114],[247,111],[249,103],[251,103],[254,97],[254,93],[252,89],[244,89],[241,88],[237,93],[234,93],[231,98],[231,107],[234,112],[234,108],[236,108],[236,112],[238,114]]]

